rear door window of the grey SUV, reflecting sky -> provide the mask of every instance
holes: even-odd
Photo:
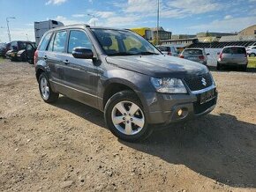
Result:
[[[67,38],[66,31],[61,31],[56,33],[54,43],[53,43],[54,52],[64,53],[66,38]]]

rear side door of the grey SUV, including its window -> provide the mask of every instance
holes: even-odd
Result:
[[[47,61],[50,70],[50,81],[55,83],[57,91],[64,93],[64,63],[67,31],[56,32],[49,41],[44,60]]]

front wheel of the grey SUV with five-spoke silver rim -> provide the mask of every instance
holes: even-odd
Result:
[[[109,130],[127,142],[144,140],[152,133],[152,129],[147,126],[147,115],[134,94],[129,90],[117,92],[105,106],[104,117]],[[131,108],[133,112],[130,112]]]

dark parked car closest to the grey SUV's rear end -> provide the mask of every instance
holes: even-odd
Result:
[[[26,48],[19,50],[17,60],[19,62],[28,62],[34,64],[34,52],[36,50],[35,42],[26,42]]]

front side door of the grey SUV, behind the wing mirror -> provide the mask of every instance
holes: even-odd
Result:
[[[64,84],[71,87],[72,98],[97,106],[98,68],[92,59],[78,59],[72,55],[73,48],[93,49],[87,33],[83,30],[70,30],[67,57],[64,61]]]

